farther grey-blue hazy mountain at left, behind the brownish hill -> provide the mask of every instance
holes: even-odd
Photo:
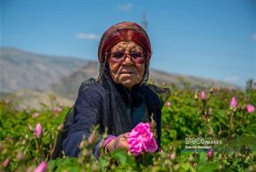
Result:
[[[0,48],[1,92],[22,88],[48,90],[57,80],[77,71],[86,60],[45,56],[14,48]]]

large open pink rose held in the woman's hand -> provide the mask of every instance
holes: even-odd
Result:
[[[134,127],[127,135],[127,143],[134,155],[138,155],[142,151],[154,153],[158,148],[153,132],[150,131],[150,123],[139,123]]]

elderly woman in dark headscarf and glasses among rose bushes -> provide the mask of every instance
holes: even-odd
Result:
[[[157,144],[161,146],[161,109],[159,94],[169,90],[146,85],[151,57],[150,41],[145,30],[136,23],[122,22],[111,26],[103,35],[98,49],[101,64],[97,83],[80,86],[74,105],[71,130],[64,138],[63,149],[68,156],[78,156],[79,143],[89,136],[90,128],[100,126],[100,134],[108,128],[103,148],[129,149],[126,135],[140,122],[154,115]],[[101,141],[94,148],[99,155]]]

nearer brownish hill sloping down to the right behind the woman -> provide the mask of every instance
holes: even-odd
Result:
[[[59,80],[51,88],[54,93],[60,96],[68,97],[74,100],[77,97],[79,86],[85,79],[94,78],[97,79],[99,74],[99,63],[89,62],[80,68],[78,71],[73,72],[70,76],[64,77]],[[229,89],[237,89],[237,86],[227,84],[222,81],[215,81],[212,79],[202,79],[199,77],[184,76],[181,74],[168,73],[164,71],[150,70],[149,81],[154,82],[156,85],[175,84],[178,87],[184,86],[184,83],[188,83],[190,88],[197,89],[200,86],[217,86]]]

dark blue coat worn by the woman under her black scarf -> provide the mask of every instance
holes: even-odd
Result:
[[[153,91],[154,90],[154,91]],[[159,99],[157,90],[159,87],[150,85],[142,86],[141,91],[145,94],[145,103],[147,106],[147,113],[154,114],[154,121],[156,123],[157,143],[161,146],[161,110],[162,103]],[[90,128],[94,125],[100,125],[100,131],[104,131],[105,127],[109,126],[109,93],[100,85],[95,84],[89,86],[87,89],[79,89],[78,99],[74,105],[74,120],[72,129],[68,131],[66,138],[64,138],[63,148],[64,153],[68,156],[78,156],[79,143],[83,136],[88,138]],[[113,135],[113,133],[109,133]],[[99,144],[95,146],[94,151],[99,152]],[[95,153],[94,153],[95,154]],[[97,155],[96,155],[97,156]]]

